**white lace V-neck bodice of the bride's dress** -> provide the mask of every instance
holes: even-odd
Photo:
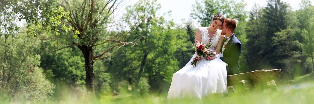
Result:
[[[214,51],[216,49],[216,46],[219,42],[219,38],[221,37],[221,30],[217,30],[213,35],[213,37],[210,39],[209,38],[209,34],[208,34],[208,30],[207,30],[207,27],[199,27],[198,28],[199,31],[201,32],[202,34],[202,39],[201,39],[201,42],[204,43],[204,44],[210,44],[211,47],[209,47],[209,50],[212,50]]]

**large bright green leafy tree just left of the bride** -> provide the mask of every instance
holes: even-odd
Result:
[[[113,84],[127,82],[135,87],[132,90],[137,92],[140,89],[141,93],[147,91],[148,87],[150,90],[162,91],[171,82],[173,73],[180,69],[176,56],[181,55],[180,48],[190,45],[186,43],[189,36],[185,28],[175,27],[172,21],[156,16],[159,8],[155,0],[140,0],[128,7],[126,18],[132,20],[145,15],[149,19],[140,20],[143,24],[134,31],[138,36],[130,37],[141,37],[137,45],[122,47],[104,62],[115,80]],[[133,24],[138,21],[127,22]],[[117,89],[115,85],[112,88]]]

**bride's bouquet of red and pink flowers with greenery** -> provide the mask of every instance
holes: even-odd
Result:
[[[196,57],[207,57],[207,56],[215,56],[214,53],[212,53],[211,50],[208,49],[208,47],[210,47],[211,45],[207,44],[205,46],[205,44],[203,44],[202,42],[198,42],[198,40],[195,41],[194,45],[193,46],[193,49],[194,51],[197,53],[197,56]],[[196,67],[196,63],[197,63],[197,60],[193,60],[191,62],[191,65],[193,67]]]

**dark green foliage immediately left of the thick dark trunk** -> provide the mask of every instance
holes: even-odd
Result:
[[[51,43],[53,44],[53,43]],[[47,47],[47,46],[46,46]],[[68,85],[85,84],[84,58],[73,52],[79,50],[76,47],[41,54],[41,67],[45,71],[53,73],[53,82],[60,82]]]

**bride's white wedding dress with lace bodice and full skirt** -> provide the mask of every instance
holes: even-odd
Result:
[[[206,28],[198,28],[202,34],[201,42],[210,44],[211,47],[209,49],[214,51],[219,38],[222,36],[220,34],[221,30],[218,29],[210,40]],[[196,67],[192,67],[190,63],[196,57],[196,54],[194,54],[185,67],[173,74],[168,99],[191,96],[201,99],[209,94],[228,93],[226,64],[219,59],[220,55],[221,53],[216,55],[217,58],[214,60],[206,60],[205,57],[201,57]]]

